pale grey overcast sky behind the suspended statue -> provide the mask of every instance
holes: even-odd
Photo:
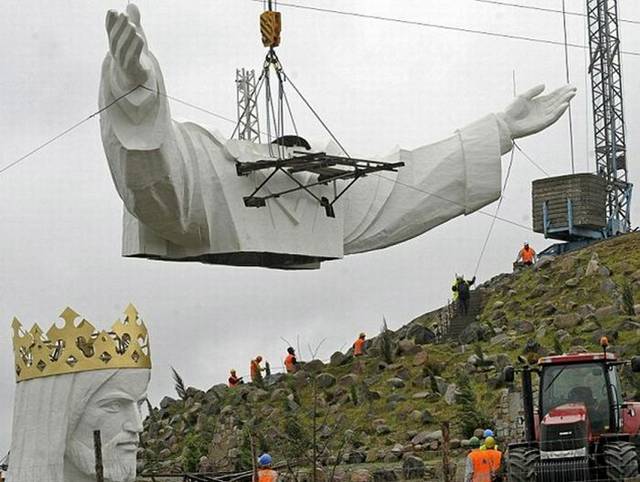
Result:
[[[562,40],[562,16],[476,0],[290,0],[343,11],[390,16],[505,34]],[[517,1],[517,0],[514,0]],[[126,1],[5,0],[0,28],[0,169],[97,109],[108,8]],[[560,8],[561,0],[520,0]],[[582,12],[585,0],[567,0]],[[637,2],[621,16],[640,20]],[[138,3],[150,48],[169,94],[235,118],[235,69],[259,69],[264,49],[251,0]],[[502,110],[512,94],[537,83],[564,83],[560,46],[505,40],[378,20],[281,8],[285,70],[352,154],[383,154],[396,145],[435,142],[477,118]],[[580,17],[568,17],[569,39],[585,43]],[[621,25],[623,49],[640,51],[640,25]],[[593,169],[591,105],[585,51],[570,49],[576,165]],[[625,56],[625,105],[631,180],[638,181],[640,57]],[[299,129],[324,138],[294,102]],[[229,135],[232,123],[173,103],[174,118]],[[567,118],[522,140],[552,175],[570,172]],[[503,159],[506,167],[508,156]],[[501,216],[531,224],[530,183],[543,176],[516,154]],[[635,197],[638,199],[638,196]],[[635,204],[634,204],[635,206]],[[485,208],[493,212],[495,204]],[[308,345],[326,338],[320,355],[350,345],[357,332],[375,334],[383,315],[392,328],[446,302],[455,272],[473,274],[490,218],[458,218],[399,246],[323,264],[319,271],[283,272],[171,264],[120,256],[122,205],[93,119],[0,174],[0,455],[9,447],[14,373],[10,323],[46,330],[70,305],[107,328],[133,302],[151,333],[150,398],[173,394],[169,367],[189,385],[208,388],[228,369],[246,373],[262,354],[281,366],[282,338]],[[519,245],[542,236],[496,223],[479,278],[508,271]]]

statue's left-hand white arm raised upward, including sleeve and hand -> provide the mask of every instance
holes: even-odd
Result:
[[[206,220],[194,214],[196,160],[185,129],[171,120],[162,73],[148,48],[138,8],[110,10],[109,52],[102,66],[101,131],[109,168],[126,209],[161,237],[189,246],[202,242]],[[117,102],[116,102],[117,100]],[[199,211],[200,213],[200,211]]]

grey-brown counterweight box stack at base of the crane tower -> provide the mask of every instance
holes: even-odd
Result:
[[[602,176],[581,173],[537,179],[531,190],[535,232],[564,240],[602,237],[607,225]]]

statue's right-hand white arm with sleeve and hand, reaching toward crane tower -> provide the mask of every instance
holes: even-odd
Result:
[[[387,160],[406,165],[394,179],[382,174],[356,183],[345,212],[345,254],[401,243],[498,199],[500,156],[511,150],[513,140],[556,122],[575,95],[572,86],[546,96],[540,95],[543,90],[544,85],[528,90],[504,112],[440,142],[396,151]]]

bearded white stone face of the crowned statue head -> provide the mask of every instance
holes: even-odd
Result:
[[[150,371],[126,369],[108,379],[89,399],[70,434],[65,464],[85,475],[95,474],[93,432],[100,430],[105,479],[133,481]]]

